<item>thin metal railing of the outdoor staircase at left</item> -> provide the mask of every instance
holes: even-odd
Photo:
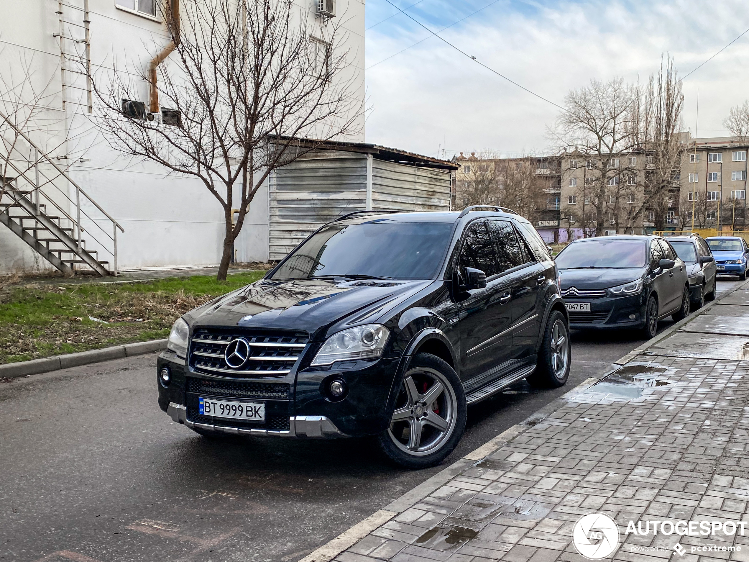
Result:
[[[112,255],[112,274],[117,275],[118,274],[118,263],[117,263],[117,230],[119,229],[120,232],[125,232],[125,229],[122,228],[121,224],[118,223],[109,213],[104,211],[104,209],[99,205],[94,199],[91,199],[91,196],[88,195],[88,193],[85,192],[85,190],[82,189],[82,187],[79,186],[79,184],[76,183],[76,181],[73,180],[73,178],[70,178],[70,175],[65,172],[64,169],[62,169],[58,163],[56,163],[52,158],[50,158],[43,150],[41,150],[34,142],[28,138],[28,135],[26,135],[22,130],[20,130],[18,127],[16,127],[16,124],[13,123],[13,121],[10,121],[7,116],[0,111],[0,118],[5,121],[5,123],[10,126],[19,136],[22,137],[22,139],[25,140],[25,142],[28,142],[28,145],[31,146],[31,148],[34,149],[34,157],[37,158],[37,160],[34,161],[34,180],[31,181],[30,178],[26,175],[26,172],[28,170],[20,170],[18,169],[15,164],[13,164],[13,161],[10,159],[10,155],[8,155],[7,158],[7,164],[13,169],[16,174],[21,176],[25,179],[25,181],[28,182],[29,185],[33,186],[33,189],[30,191],[32,194],[34,194],[35,198],[33,199],[34,204],[37,205],[37,213],[39,212],[39,193],[41,190],[41,184],[40,184],[40,176],[43,177],[44,180],[46,180],[46,184],[52,185],[52,187],[55,187],[56,190],[58,190],[59,193],[61,193],[62,196],[64,196],[65,199],[67,199],[76,209],[75,214],[76,217],[71,217],[67,211],[64,210],[64,208],[61,208],[60,205],[58,205],[57,202],[55,202],[54,199],[50,198],[49,196],[46,196],[45,199],[57,210],[59,211],[67,220],[70,221],[70,223],[73,225],[73,235],[76,239],[76,242],[78,244],[78,250],[83,250],[81,240],[82,240],[82,233],[88,232],[88,235],[91,237],[92,241],[96,242],[98,246],[105,250],[106,252],[110,253]],[[40,169],[38,166],[39,163],[39,157],[41,157],[41,160],[46,161],[46,163],[49,163],[53,169],[55,169],[55,172],[57,172],[57,175],[55,178],[49,178],[43,170]],[[28,159],[27,159],[28,160]],[[58,187],[54,181],[55,179],[63,177],[65,178],[76,190],[76,196],[75,201],[73,199],[70,199],[70,196],[66,191],[61,190],[60,187]],[[112,227],[112,234],[109,234],[109,232],[104,229],[98,222],[98,220],[94,219],[94,217],[91,217],[88,213],[85,211],[82,211],[81,209],[81,196],[85,198],[86,201],[91,203],[91,205],[94,205],[95,208],[97,208],[103,215],[106,217],[107,220],[109,220],[110,226]],[[48,213],[49,214],[49,213]],[[88,231],[85,231],[85,229],[81,226],[81,218],[84,218],[86,220],[89,220],[92,224],[97,226],[98,229],[100,229],[101,232],[103,232],[103,235],[106,238],[109,238],[110,241],[112,241],[112,250],[109,250],[107,247],[108,244],[103,244],[102,241],[96,238],[94,236],[94,233],[91,232],[91,229]],[[101,236],[101,235],[99,235]],[[105,238],[105,239],[106,239]]]

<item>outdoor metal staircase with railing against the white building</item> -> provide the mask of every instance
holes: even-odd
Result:
[[[67,276],[76,271],[117,275],[122,226],[2,112],[0,120],[25,141],[0,155],[6,169],[6,177],[0,177],[0,223]],[[87,240],[97,250],[89,250]]]

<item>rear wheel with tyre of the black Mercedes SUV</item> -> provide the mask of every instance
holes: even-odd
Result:
[[[526,380],[534,387],[559,388],[569,378],[572,356],[569,327],[562,312],[551,312],[543,336],[536,370]]]

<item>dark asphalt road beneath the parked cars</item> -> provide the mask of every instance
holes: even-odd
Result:
[[[565,387],[522,382],[470,408],[424,471],[365,439],[202,438],[158,408],[155,354],[0,384],[0,561],[297,561],[640,342],[574,333]]]

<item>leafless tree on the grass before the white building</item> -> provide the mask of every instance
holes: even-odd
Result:
[[[188,0],[181,13],[175,5],[167,3],[165,14],[168,64],[154,71],[152,62],[146,73],[151,112],[155,89],[164,122],[150,121],[137,105],[124,108],[124,97],[139,99],[130,76],[144,72],[115,68],[93,79],[98,123],[121,154],[198,179],[216,198],[225,223],[217,277],[224,280],[234,240],[270,172],[324,141],[360,133],[358,76],[339,26],[309,25],[292,0]]]

